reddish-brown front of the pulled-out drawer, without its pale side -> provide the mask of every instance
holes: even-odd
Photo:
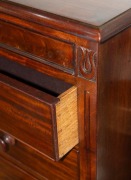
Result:
[[[26,78],[24,80],[27,81]],[[56,85],[59,88],[61,86],[57,80]],[[42,90],[44,91],[44,89]],[[0,127],[46,156],[59,159],[55,129],[57,123],[55,104],[60,100],[49,94],[55,94],[55,92],[45,93],[42,90],[0,74]],[[1,141],[2,143],[3,141]],[[4,145],[3,143],[3,148]]]

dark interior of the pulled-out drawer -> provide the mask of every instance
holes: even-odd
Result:
[[[69,83],[40,73],[5,57],[0,57],[0,73],[55,97],[72,86]]]

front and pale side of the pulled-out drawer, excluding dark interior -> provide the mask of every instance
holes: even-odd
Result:
[[[0,74],[0,104],[0,127],[50,158],[78,144],[76,87],[57,98]]]

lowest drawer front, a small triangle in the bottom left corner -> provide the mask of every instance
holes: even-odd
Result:
[[[7,160],[4,160],[0,157],[0,179],[1,180],[35,180],[36,178],[32,177],[25,171],[21,170],[17,166],[11,164]]]

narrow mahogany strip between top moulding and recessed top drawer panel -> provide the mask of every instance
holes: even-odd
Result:
[[[87,38],[83,39],[82,35],[78,36],[76,38],[76,34],[69,33],[69,32],[67,33],[63,30],[58,30],[58,28],[52,28],[45,24],[44,25],[38,24],[36,22],[27,21],[26,19],[22,19],[22,18],[15,17],[15,16],[10,16],[9,14],[2,13],[1,11],[0,11],[0,19],[4,22],[8,22],[17,27],[21,27],[21,28],[27,29],[29,31],[33,31],[33,32],[41,34],[41,35],[48,36],[50,38],[52,37],[53,39],[59,39],[62,41],[66,41],[68,43],[73,44],[74,46],[75,46],[75,43],[79,43],[79,45],[81,45],[81,46],[84,46],[84,45],[88,46],[88,43],[90,43],[90,46],[92,44],[92,48],[94,48],[93,44],[95,44],[95,42],[90,41]],[[65,22],[65,23],[67,23],[67,22]],[[65,26],[65,28],[67,27],[66,24],[64,26]],[[68,24],[68,27],[70,27],[69,24]],[[78,27],[75,26],[74,28],[76,30]],[[83,30],[83,28],[81,30]],[[26,31],[26,32],[28,32],[28,31]],[[87,33],[87,32],[88,31],[86,31],[85,33]],[[78,32],[77,32],[77,34],[78,34]],[[91,36],[93,36],[93,33],[91,33]]]

